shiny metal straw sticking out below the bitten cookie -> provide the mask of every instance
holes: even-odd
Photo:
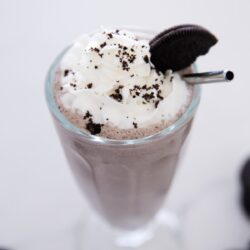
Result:
[[[203,73],[193,73],[182,75],[184,80],[192,85],[214,83],[214,82],[230,82],[234,78],[234,73],[230,70],[210,71]]]

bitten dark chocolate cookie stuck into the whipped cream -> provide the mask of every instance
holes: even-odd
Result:
[[[211,32],[201,26],[174,26],[150,41],[151,62],[163,73],[168,69],[185,69],[198,56],[205,55],[217,41]]]

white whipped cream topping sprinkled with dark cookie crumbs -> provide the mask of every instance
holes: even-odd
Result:
[[[149,42],[125,30],[80,37],[60,69],[64,108],[99,127],[144,128],[171,120],[189,98],[178,74],[154,68]]]

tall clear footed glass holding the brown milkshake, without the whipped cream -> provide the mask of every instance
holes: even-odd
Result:
[[[137,31],[137,34],[146,39],[154,35],[145,31]],[[156,230],[152,221],[162,207],[173,179],[182,145],[199,104],[200,88],[194,87],[191,103],[185,113],[157,134],[135,140],[93,136],[68,121],[58,110],[54,99],[55,72],[66,51],[57,57],[49,69],[46,98],[75,179],[91,208],[102,218],[90,223],[92,228],[97,223],[95,227],[98,230],[92,232],[96,242],[90,241],[89,236],[85,238],[84,246],[91,250],[119,247],[148,249],[148,244],[155,247],[159,242],[154,240],[153,231]],[[90,235],[90,232],[85,234]],[[101,247],[95,244],[101,244]],[[161,248],[157,246],[157,249]],[[172,246],[171,249],[176,247]]]

